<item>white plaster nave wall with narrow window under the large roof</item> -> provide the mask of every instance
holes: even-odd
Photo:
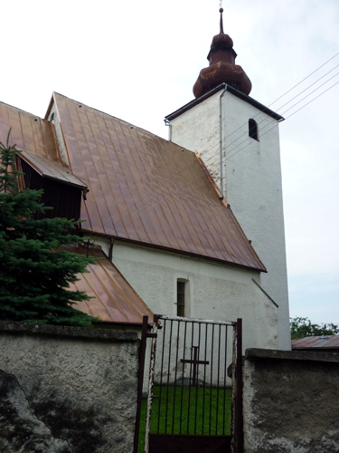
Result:
[[[176,315],[176,281],[189,282],[188,317],[243,319],[244,350],[278,347],[277,308],[259,274],[115,241],[113,263],[154,313]]]

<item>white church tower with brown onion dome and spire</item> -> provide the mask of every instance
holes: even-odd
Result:
[[[279,348],[291,348],[278,113],[250,98],[251,82],[235,64],[228,34],[213,37],[193,87],[195,100],[165,117],[169,139],[198,151],[267,274],[261,287],[278,304]],[[246,325],[244,326],[246,329]],[[262,333],[265,335],[265,333]]]

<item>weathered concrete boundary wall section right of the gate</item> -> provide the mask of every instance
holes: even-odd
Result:
[[[339,353],[248,350],[247,453],[339,451]]]

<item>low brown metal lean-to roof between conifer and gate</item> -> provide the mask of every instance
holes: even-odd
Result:
[[[87,248],[83,246],[66,248],[81,255],[86,255],[87,252]],[[149,323],[152,323],[151,310],[101,249],[89,248],[89,256],[99,260],[95,265],[88,265],[89,272],[78,275],[80,280],[70,286],[72,291],[83,291],[93,298],[88,302],[73,305],[74,308],[105,323],[141,324],[144,315],[147,315]]]

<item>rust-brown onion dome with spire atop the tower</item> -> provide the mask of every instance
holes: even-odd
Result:
[[[252,83],[246,72],[241,66],[235,64],[237,53],[233,49],[231,37],[223,33],[223,9],[221,8],[219,11],[221,14],[220,34],[216,34],[212,39],[211,50],[207,55],[210,66],[202,69],[194,83],[193,94],[196,98],[221,83],[227,83],[245,94],[250,94],[252,88]]]

